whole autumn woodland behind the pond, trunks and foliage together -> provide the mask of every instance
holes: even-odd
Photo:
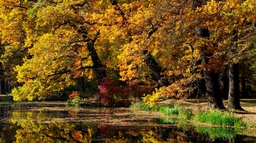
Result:
[[[1,94],[207,97],[242,110],[256,88],[255,23],[254,0],[2,0]]]

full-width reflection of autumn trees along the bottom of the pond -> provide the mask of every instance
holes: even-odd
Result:
[[[194,126],[179,124],[172,128],[137,129],[134,126],[131,129],[130,126],[119,127],[104,122],[95,125],[81,122],[80,126],[58,123],[58,118],[53,119],[50,113],[43,111],[14,111],[11,123],[13,125],[0,130],[0,142],[215,142],[234,141],[238,132],[234,128],[195,129]],[[88,128],[88,125],[91,127]],[[7,132],[10,132],[11,138]]]

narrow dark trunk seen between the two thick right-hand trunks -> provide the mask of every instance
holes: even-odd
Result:
[[[225,69],[221,79],[219,79],[219,89],[221,91],[222,100],[228,99],[228,76],[226,71],[227,70]]]

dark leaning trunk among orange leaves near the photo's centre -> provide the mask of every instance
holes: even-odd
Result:
[[[159,87],[170,85],[167,77],[161,74],[164,70],[156,62],[155,58],[153,58],[150,52],[148,52],[147,50],[144,50],[143,55],[144,55],[144,61],[146,62],[147,66],[149,66],[149,69],[152,70],[152,72],[155,74]]]

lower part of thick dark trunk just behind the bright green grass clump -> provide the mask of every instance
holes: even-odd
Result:
[[[204,71],[204,79],[206,80],[206,97],[208,98],[208,110],[215,108],[224,110],[221,92],[219,90],[218,74],[213,71]]]

